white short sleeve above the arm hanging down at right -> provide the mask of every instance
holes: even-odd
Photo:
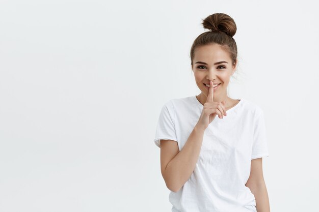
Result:
[[[263,111],[261,108],[258,108],[256,112],[251,160],[269,157]]]

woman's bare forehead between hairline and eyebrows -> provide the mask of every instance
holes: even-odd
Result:
[[[230,61],[229,53],[219,44],[209,44],[195,49],[194,62],[215,63],[219,61]]]

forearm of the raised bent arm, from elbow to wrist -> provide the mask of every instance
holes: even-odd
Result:
[[[199,157],[203,136],[204,131],[195,126],[183,148],[168,163],[165,175],[170,179],[171,191],[179,191],[190,178]]]

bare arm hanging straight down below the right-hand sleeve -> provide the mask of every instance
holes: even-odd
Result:
[[[262,173],[262,158],[251,161],[250,176],[245,186],[255,196],[257,212],[270,212],[268,192]]]

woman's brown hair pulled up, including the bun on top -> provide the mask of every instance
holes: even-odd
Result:
[[[235,21],[227,14],[214,13],[205,19],[202,19],[202,24],[209,32],[200,34],[194,41],[191,48],[191,65],[193,68],[193,60],[195,49],[207,44],[217,43],[229,52],[233,66],[237,58],[237,45],[233,36],[236,33],[237,27]]]

